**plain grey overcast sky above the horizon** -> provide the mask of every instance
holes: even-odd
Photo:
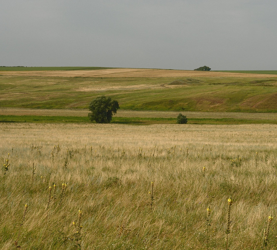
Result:
[[[0,66],[277,70],[276,0],[2,0]]]

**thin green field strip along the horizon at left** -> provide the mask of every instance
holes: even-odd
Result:
[[[106,67],[1,67],[0,71],[39,71],[39,70],[97,70]]]

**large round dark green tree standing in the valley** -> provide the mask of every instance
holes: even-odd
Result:
[[[110,97],[100,96],[89,103],[89,119],[96,123],[110,123],[119,108],[118,102]]]

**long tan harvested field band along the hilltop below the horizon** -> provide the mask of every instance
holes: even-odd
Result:
[[[67,71],[0,71],[7,76],[51,76],[51,77],[255,77],[274,78],[272,74],[248,74],[194,70],[165,70],[165,69],[134,69],[112,68],[99,70],[67,70]]]

